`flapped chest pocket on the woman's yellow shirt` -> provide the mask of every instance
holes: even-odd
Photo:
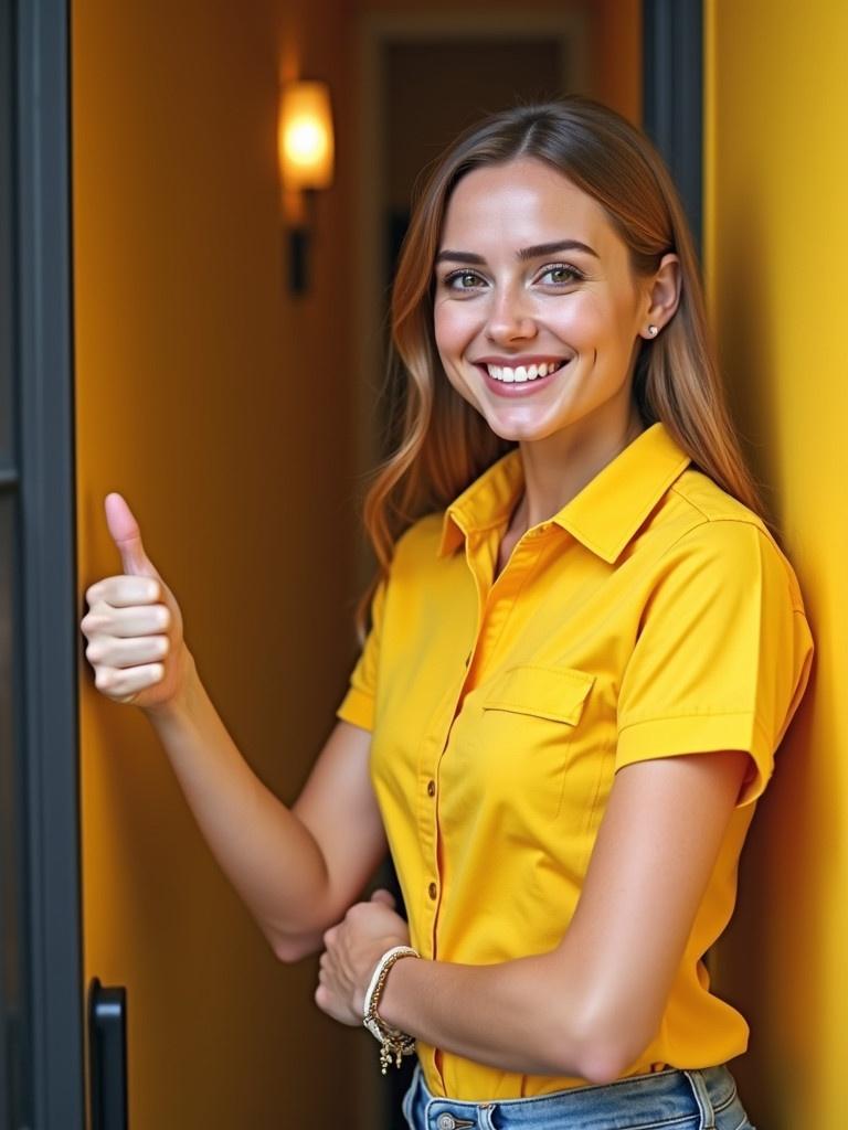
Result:
[[[522,664],[481,687],[476,745],[485,788],[521,825],[582,820],[591,803],[597,766],[580,722],[594,683],[577,668]]]

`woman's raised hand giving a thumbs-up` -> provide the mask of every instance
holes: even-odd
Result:
[[[120,494],[106,495],[106,524],[121,554],[123,575],[86,590],[80,621],[95,686],[116,703],[162,709],[184,692],[192,664],[174,594],[145,553],[132,511]]]

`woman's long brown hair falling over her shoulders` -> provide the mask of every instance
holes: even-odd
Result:
[[[513,443],[496,436],[448,382],[433,329],[433,264],[450,194],[466,173],[536,157],[597,200],[650,275],[680,258],[681,298],[654,340],[643,340],[633,398],[646,427],[661,420],[694,466],[770,525],[730,420],[710,339],[698,258],[670,174],[650,140],[608,106],[582,95],[518,106],[461,133],[414,194],[391,296],[391,380],[405,388],[400,440],[377,469],[364,506],[379,573],[357,614],[364,632],[395,544],[417,518],[442,510]]]

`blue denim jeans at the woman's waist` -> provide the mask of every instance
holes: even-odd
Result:
[[[412,1130],[754,1130],[725,1064],[470,1103],[433,1096],[418,1063],[404,1114]]]

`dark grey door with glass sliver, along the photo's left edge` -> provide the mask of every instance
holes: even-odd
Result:
[[[0,1130],[81,1130],[68,11],[0,0]]]

